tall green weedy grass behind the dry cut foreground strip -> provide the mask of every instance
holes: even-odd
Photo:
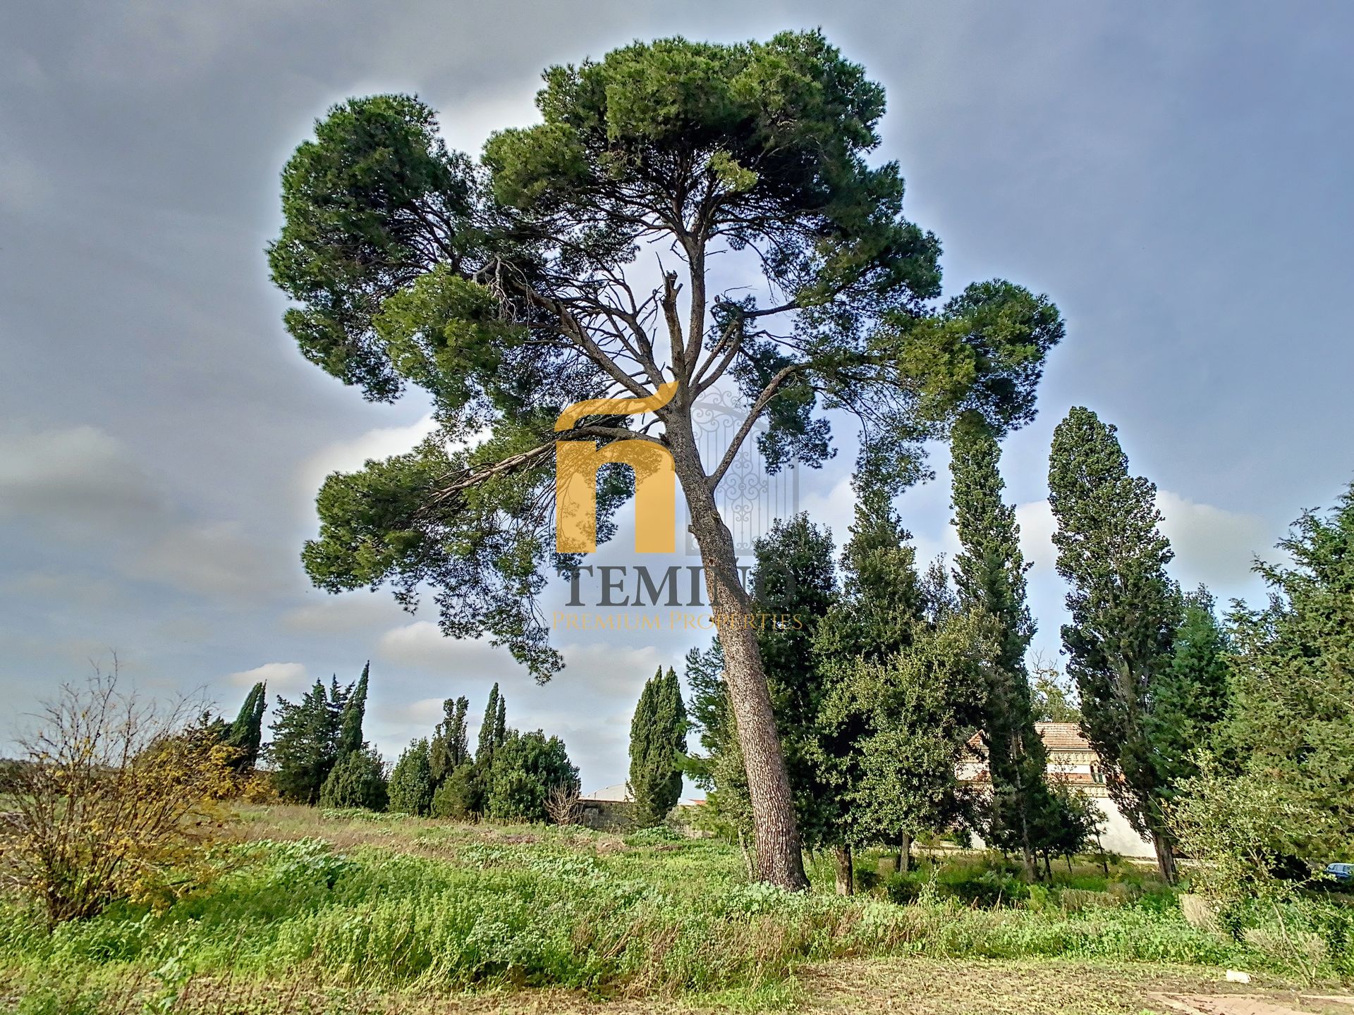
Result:
[[[1022,895],[999,863],[952,858],[922,863],[900,905],[888,901],[899,895],[890,880],[872,895],[829,895],[823,863],[808,895],[746,884],[737,849],[662,834],[259,808],[242,816],[241,836],[218,849],[209,884],[160,908],[118,904],[49,935],[8,901],[0,964],[24,984],[139,977],[165,996],[198,976],[699,995],[731,1007],[788,1003],[787,977],[802,962],[869,955],[1282,972],[1273,954],[1190,927],[1136,870],[1120,873],[1118,895],[1082,869]]]

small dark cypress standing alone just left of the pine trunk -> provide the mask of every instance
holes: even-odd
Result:
[[[686,754],[686,706],[672,667],[659,666],[630,723],[630,792],[643,827],[662,824],[681,796],[680,755]]]

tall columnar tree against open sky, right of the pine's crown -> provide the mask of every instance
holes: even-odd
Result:
[[[1053,432],[1048,501],[1072,614],[1063,646],[1080,692],[1082,732],[1105,765],[1110,798],[1152,840],[1162,876],[1174,881],[1148,716],[1171,664],[1179,591],[1166,574],[1173,554],[1158,528],[1156,487],[1129,475],[1114,434],[1079,406]]]

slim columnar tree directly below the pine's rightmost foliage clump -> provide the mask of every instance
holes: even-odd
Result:
[[[955,528],[964,552],[955,558],[960,604],[992,625],[995,655],[987,667],[983,746],[992,796],[987,839],[999,849],[1018,849],[1033,880],[1040,830],[1052,816],[1044,771],[1048,754],[1034,728],[1033,697],[1025,650],[1034,621],[1025,601],[1028,564],[1020,549],[1016,508],[1002,499],[1006,484],[998,468],[1001,448],[982,420],[955,426]]]

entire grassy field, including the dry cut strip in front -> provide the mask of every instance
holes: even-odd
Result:
[[[839,899],[825,862],[796,896],[712,839],[246,808],[181,897],[50,935],[8,903],[0,984],[24,1012],[1139,1012],[1225,968],[1292,993],[1280,957],[1140,872],[1011,900],[974,865]]]

